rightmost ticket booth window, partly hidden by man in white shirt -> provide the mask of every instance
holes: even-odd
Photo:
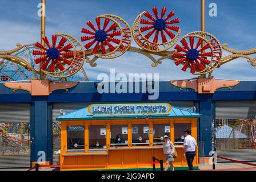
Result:
[[[191,131],[191,123],[176,123],[174,124],[174,144],[183,145],[184,131]]]

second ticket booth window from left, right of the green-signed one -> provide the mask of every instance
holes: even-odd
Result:
[[[89,151],[106,151],[106,125],[89,126]]]

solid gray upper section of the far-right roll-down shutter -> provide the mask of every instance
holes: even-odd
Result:
[[[216,119],[254,119],[256,100],[216,101]]]

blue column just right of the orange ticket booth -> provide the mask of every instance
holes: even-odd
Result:
[[[202,117],[199,121],[199,132],[200,141],[203,142],[205,149],[205,156],[209,156],[211,151],[211,121],[212,121],[212,111],[213,104],[211,103],[211,94],[201,94],[199,107]]]

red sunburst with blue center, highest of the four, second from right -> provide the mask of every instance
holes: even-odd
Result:
[[[170,20],[170,18],[175,15],[174,11],[170,11],[165,16],[167,8],[162,7],[161,15],[159,16],[157,7],[153,7],[152,10],[153,10],[155,18],[153,17],[153,15],[151,15],[149,13],[149,11],[145,11],[145,13],[143,15],[146,16],[147,19],[141,18],[141,20],[140,20],[140,24],[150,24],[150,26],[145,26],[145,27],[140,28],[141,32],[143,32],[142,34],[144,34],[144,33],[146,34],[143,36],[145,36],[146,39],[150,39],[150,37],[155,32],[155,35],[153,38],[154,43],[159,42],[158,41],[159,33],[161,34],[162,43],[168,42],[166,35],[168,35],[171,39],[174,39],[175,34],[172,31],[174,31],[174,32],[179,31],[179,27],[171,26],[171,24],[179,23],[178,18]]]

